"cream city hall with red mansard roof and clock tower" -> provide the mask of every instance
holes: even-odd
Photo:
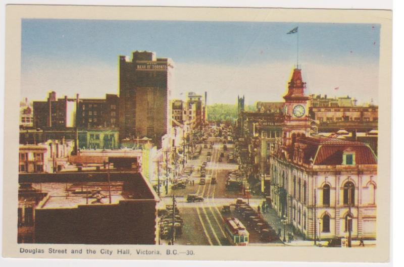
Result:
[[[295,69],[282,136],[268,144],[271,205],[308,239],[349,231],[353,239],[375,239],[377,156],[368,143],[313,134],[305,88]]]

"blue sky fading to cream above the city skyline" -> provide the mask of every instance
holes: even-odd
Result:
[[[174,61],[173,98],[207,91],[208,104],[283,101],[297,37],[308,94],[378,99],[379,24],[24,19],[21,37],[29,100],[118,93],[119,56],[148,50]]]

